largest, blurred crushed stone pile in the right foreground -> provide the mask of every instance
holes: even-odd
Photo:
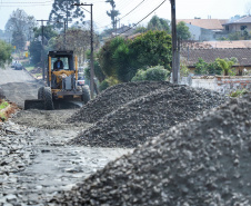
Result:
[[[49,203],[248,206],[250,159],[249,94],[172,127]]]

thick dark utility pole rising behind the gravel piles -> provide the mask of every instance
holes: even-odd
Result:
[[[177,43],[177,19],[175,19],[175,0],[171,2],[171,16],[172,16],[172,82],[179,84],[179,57],[178,57],[178,43]]]

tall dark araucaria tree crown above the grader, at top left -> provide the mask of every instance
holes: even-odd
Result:
[[[76,23],[83,24],[83,11],[80,7],[71,7],[72,0],[56,0],[52,4],[52,10],[49,16],[50,21],[73,21]],[[76,0],[74,3],[80,3],[80,0]],[[57,28],[63,28],[62,23],[56,23]],[[67,24],[68,26],[68,24]]]

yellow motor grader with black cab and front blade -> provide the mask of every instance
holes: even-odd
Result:
[[[47,86],[38,90],[37,106],[52,110],[57,99],[81,99],[84,104],[90,100],[88,86],[77,86],[78,59],[73,51],[49,51],[47,68]],[[26,100],[24,109],[36,108],[36,100]]]

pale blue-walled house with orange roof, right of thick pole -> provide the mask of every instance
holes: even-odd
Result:
[[[224,31],[223,23],[228,22],[227,19],[178,19],[177,23],[185,22],[191,32],[192,40],[210,41],[215,40],[219,33]]]

